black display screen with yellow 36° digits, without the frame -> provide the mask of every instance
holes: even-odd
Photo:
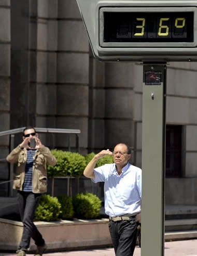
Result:
[[[193,12],[104,12],[104,42],[193,42]],[[159,47],[159,44],[158,44]]]

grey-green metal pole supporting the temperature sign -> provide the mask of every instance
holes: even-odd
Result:
[[[164,255],[166,63],[144,63],[142,256]]]

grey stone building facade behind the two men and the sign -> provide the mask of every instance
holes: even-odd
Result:
[[[75,0],[1,0],[0,20],[0,131],[27,124],[80,129],[80,153],[124,142],[133,149],[132,163],[140,167],[142,65],[94,59]],[[168,204],[197,202],[196,79],[196,63],[167,66]],[[172,146],[176,138],[177,148]],[[55,136],[55,147],[66,144]],[[0,137],[0,148],[5,158],[9,137]],[[0,170],[0,180],[8,180],[5,161]],[[1,185],[0,196],[5,191]]]

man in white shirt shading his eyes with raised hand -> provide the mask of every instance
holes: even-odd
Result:
[[[98,159],[113,155],[114,163],[95,168]],[[83,174],[94,183],[104,182],[105,213],[116,256],[132,256],[137,240],[136,215],[141,211],[142,170],[129,163],[130,148],[123,143],[97,153]]]

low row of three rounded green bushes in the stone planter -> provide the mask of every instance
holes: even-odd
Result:
[[[101,200],[92,193],[72,197],[41,195],[35,211],[35,221],[58,221],[59,219],[96,219],[100,215]]]

